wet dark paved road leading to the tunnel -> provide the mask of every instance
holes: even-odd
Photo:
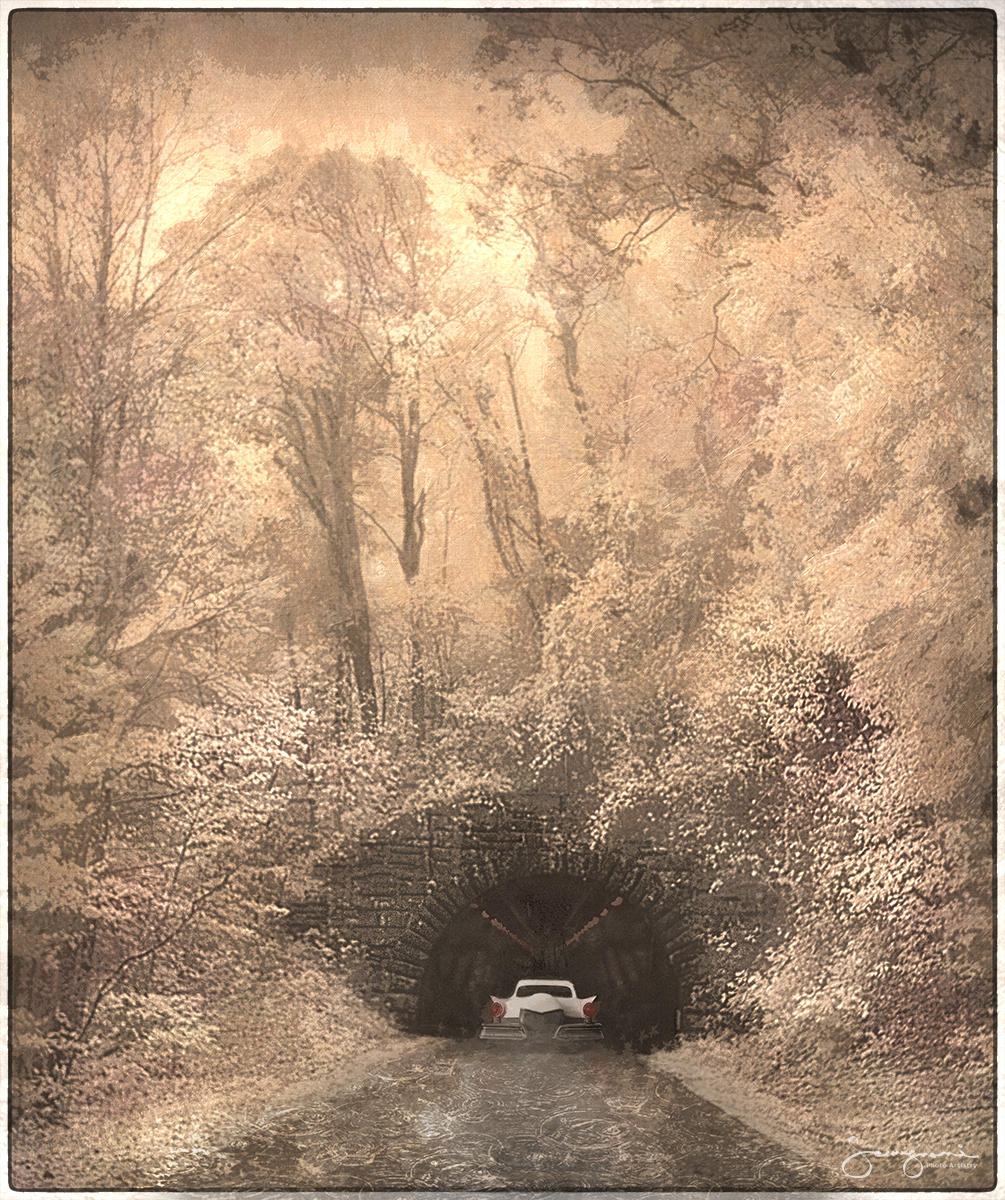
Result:
[[[160,1187],[812,1190],[834,1180],[607,1048],[444,1043],[175,1159]]]

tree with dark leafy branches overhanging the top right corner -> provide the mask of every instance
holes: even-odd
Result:
[[[584,420],[583,331],[620,288],[625,268],[674,218],[687,214],[708,224],[709,248],[718,253],[727,232],[778,233],[780,191],[795,186],[811,203],[812,176],[793,170],[792,154],[806,95],[849,108],[868,97],[887,114],[901,152],[933,179],[964,186],[987,179],[981,96],[989,41],[986,23],[970,14],[859,22],[632,13],[614,23],[582,12],[487,20],[482,61],[513,95],[519,119],[529,121],[542,103],[561,106],[579,88],[619,120],[607,152],[529,158],[491,134],[477,145],[487,161],[483,224],[499,230],[508,222],[532,248],[530,286],[554,313],[566,383]]]

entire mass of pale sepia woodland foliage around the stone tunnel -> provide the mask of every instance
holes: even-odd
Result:
[[[480,19],[506,122],[188,208],[162,24],[16,62],[20,1116],[192,1069],[318,856],[514,787],[771,898],[704,1000],[772,1061],[981,1044],[986,23]]]

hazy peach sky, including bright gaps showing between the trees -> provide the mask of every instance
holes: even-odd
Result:
[[[150,20],[150,14],[121,10],[16,12],[11,52],[16,62],[44,70],[91,43],[137,32]],[[169,188],[170,203],[161,205],[161,232],[197,216],[228,172],[240,172],[281,145],[305,154],[345,145],[362,157],[401,155],[411,162],[453,232],[462,271],[525,293],[525,257],[516,247],[493,250],[475,238],[469,193],[445,169],[447,160],[463,154],[474,131],[504,149],[518,142],[528,157],[544,157],[609,149],[621,127],[616,118],[597,113],[574,83],[561,107],[544,107],[534,121],[517,125],[508,97],[485,83],[477,64],[487,26],[464,12],[167,11],[154,20],[152,36],[166,61],[181,71],[199,68],[191,104],[207,131],[199,169],[183,186]],[[546,504],[549,493],[567,498],[582,449],[578,440],[562,446],[564,422],[552,425],[542,410],[547,358],[547,340],[532,335],[519,367],[531,448],[536,443],[538,461],[548,458],[549,469],[541,472]],[[427,486],[443,484],[435,456],[427,457],[425,470]],[[467,486],[452,481],[452,491],[468,497],[455,509],[451,541],[469,547],[468,566],[481,564],[475,575],[491,574],[493,551],[471,487],[470,480]],[[439,553],[437,540],[431,529],[431,558]],[[374,584],[397,580],[393,554],[371,556],[369,563]]]

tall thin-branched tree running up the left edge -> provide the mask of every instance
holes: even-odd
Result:
[[[52,1084],[171,928],[132,923],[122,856],[154,817],[120,781],[173,700],[212,686],[207,643],[260,599],[263,564],[246,498],[224,488],[183,406],[186,276],[245,211],[162,236],[166,193],[199,145],[191,74],[143,30],[19,71],[12,1001],[37,1034],[25,1069]],[[179,911],[194,917],[222,880],[193,880]],[[122,971],[102,982],[116,954]]]

